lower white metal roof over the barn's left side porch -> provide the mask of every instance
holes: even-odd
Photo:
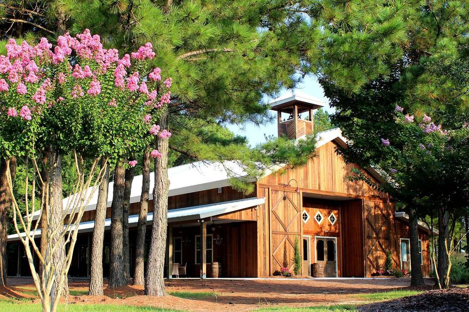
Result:
[[[243,210],[249,207],[256,207],[265,203],[265,198],[245,198],[232,201],[224,201],[221,203],[214,203],[208,205],[192,206],[179,209],[171,209],[168,211],[168,222],[177,222],[177,221],[188,221],[188,220],[197,220],[208,218],[215,215],[223,215],[232,213],[238,210]],[[153,221],[153,213],[147,215],[147,223]],[[129,215],[128,216],[128,225],[129,227],[136,226],[138,223],[138,215]],[[111,219],[106,219],[105,228],[109,229],[111,226]],[[78,225],[78,233],[88,233],[93,232],[94,221],[81,222]],[[29,234],[33,235],[34,231],[31,231]],[[26,236],[23,232],[21,237]],[[41,229],[36,230],[35,237],[41,237]],[[19,240],[20,237],[18,234],[8,235],[8,241]]]

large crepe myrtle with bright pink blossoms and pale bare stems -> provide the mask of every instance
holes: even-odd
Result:
[[[51,48],[45,38],[34,46],[25,41],[19,45],[11,39],[6,56],[0,56],[0,148],[6,156],[13,223],[44,312],[57,311],[78,224],[99,188],[107,163],[123,161],[128,150],[142,144],[141,138],[149,131],[160,132],[155,130],[157,125],[149,123],[149,116],[158,118],[170,96],[168,83],[151,74],[160,69],[148,69],[148,59],[154,56],[151,44],[119,58],[118,50],[103,49],[100,37],[85,30],[76,37],[58,37],[57,46]],[[43,179],[38,163],[46,150],[53,160],[47,179]],[[54,192],[54,183],[62,179],[60,156],[69,151],[77,179],[73,194],[57,215],[53,207],[60,201],[62,208],[62,195]],[[26,167],[22,198],[13,192],[10,157]],[[85,157],[93,159],[86,171]],[[100,160],[103,165],[98,169]],[[132,164],[129,161],[126,166]],[[34,169],[31,174],[30,167]],[[43,190],[40,199],[36,198],[38,184]],[[24,216],[20,201],[25,203]],[[39,217],[34,221],[38,210]],[[41,219],[47,223],[45,253],[35,242]],[[41,270],[35,267],[34,258]]]

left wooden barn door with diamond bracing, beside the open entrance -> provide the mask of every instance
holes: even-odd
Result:
[[[295,237],[301,243],[300,198],[299,193],[271,190],[271,274],[282,267],[293,270]]]

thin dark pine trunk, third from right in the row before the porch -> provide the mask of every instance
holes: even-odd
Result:
[[[133,176],[135,175],[135,167],[130,167],[126,170],[125,174],[125,187],[124,187],[124,202],[122,205],[122,230],[124,250],[122,253],[122,259],[124,262],[124,279],[126,283],[130,283],[130,245],[128,241],[128,209],[130,205],[130,191],[132,190]]]

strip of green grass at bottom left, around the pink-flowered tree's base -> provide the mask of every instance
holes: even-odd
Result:
[[[40,304],[27,303],[24,300],[0,300],[0,311],[41,312]],[[69,304],[61,305],[59,312],[182,312],[182,310],[161,309],[152,307],[132,307],[108,304]]]

